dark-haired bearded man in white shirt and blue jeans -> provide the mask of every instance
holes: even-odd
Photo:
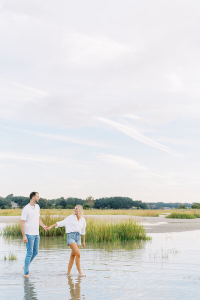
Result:
[[[48,226],[45,226],[40,219],[39,214],[39,194],[36,191],[30,193],[30,202],[25,205],[21,212],[21,233],[23,241],[26,245],[26,256],[24,261],[24,277],[30,277],[29,264],[37,255],[39,249],[39,225],[47,231]]]

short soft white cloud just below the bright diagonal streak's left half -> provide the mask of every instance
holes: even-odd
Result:
[[[97,158],[107,163],[122,165],[125,168],[147,170],[145,166],[140,165],[137,161],[119,155],[98,153]]]

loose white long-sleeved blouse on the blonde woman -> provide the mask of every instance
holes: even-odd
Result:
[[[71,214],[67,216],[64,220],[56,223],[57,226],[55,226],[55,228],[65,226],[66,233],[79,232],[82,235],[85,234],[86,221],[84,217],[81,217],[79,218],[79,220],[77,220],[76,215]]]

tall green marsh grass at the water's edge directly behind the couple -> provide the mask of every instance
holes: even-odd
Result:
[[[41,219],[44,224],[51,225],[60,221],[63,217],[44,215]],[[2,230],[2,234],[4,236],[20,236],[20,223],[6,225]],[[51,230],[45,231],[39,226],[40,236],[64,236],[65,234],[65,227],[58,227],[57,229],[52,227]],[[144,226],[132,219],[110,222],[90,218],[86,221],[86,240],[88,242],[149,239],[151,238],[146,235]]]

